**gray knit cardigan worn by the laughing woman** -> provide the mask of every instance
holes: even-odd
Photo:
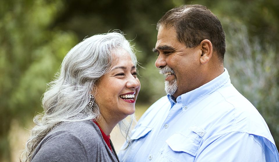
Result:
[[[94,122],[77,121],[63,123],[51,130],[37,146],[31,161],[117,162],[118,159]]]

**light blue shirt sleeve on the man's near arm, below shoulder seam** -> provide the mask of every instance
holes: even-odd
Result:
[[[202,161],[266,161],[261,143],[253,135],[231,132],[206,139],[196,155],[195,162]]]

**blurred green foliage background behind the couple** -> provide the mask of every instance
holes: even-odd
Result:
[[[226,32],[225,67],[232,84],[252,102],[279,146],[278,0],[1,0],[0,1],[0,161],[19,161],[42,112],[41,97],[63,57],[86,36],[119,29],[133,40],[141,91],[137,119],[165,95],[151,51],[156,23],[169,9],[202,4]],[[115,130],[112,141],[121,145]],[[119,137],[120,138],[120,137]],[[123,140],[123,139],[122,139]]]

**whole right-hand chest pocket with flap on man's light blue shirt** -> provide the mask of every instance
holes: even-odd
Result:
[[[178,159],[194,159],[205,133],[205,130],[198,126],[191,126],[187,132],[174,133],[166,140],[167,145],[172,150],[169,155],[180,153]]]

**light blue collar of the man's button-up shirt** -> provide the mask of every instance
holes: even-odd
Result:
[[[167,97],[169,99],[169,102],[171,103],[171,107],[174,106],[176,103],[182,103],[183,107],[189,107],[205,95],[209,95],[225,84],[230,84],[230,76],[226,68],[224,68],[224,72],[221,75],[190,92],[178,96],[176,100],[174,100],[174,97],[169,94],[167,95]]]

